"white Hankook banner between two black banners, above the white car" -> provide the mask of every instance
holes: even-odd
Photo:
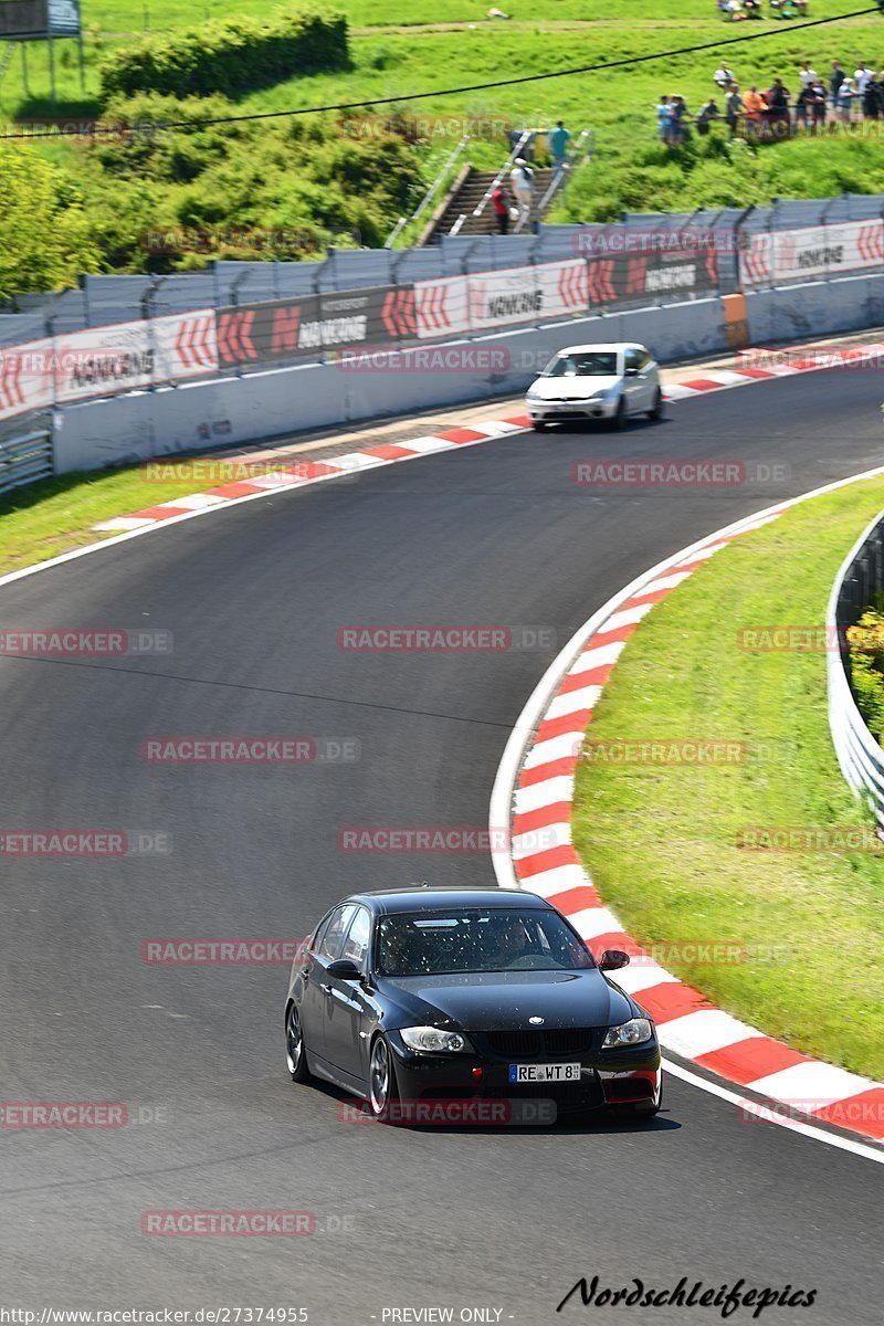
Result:
[[[415,302],[417,335],[421,338],[586,313],[586,260],[570,259],[566,263],[452,276],[441,281],[417,281]]]

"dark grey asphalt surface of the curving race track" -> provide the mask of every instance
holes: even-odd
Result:
[[[879,402],[868,373],[781,379],[683,402],[622,438],[516,436],[268,497],[0,590],[5,627],[175,636],[168,658],[0,659],[0,826],[174,842],[167,857],[3,862],[3,1098],[162,1114],[117,1131],[0,1132],[8,1302],[300,1305],[330,1326],[449,1305],[542,1323],[588,1319],[574,1299],[555,1314],[582,1274],[657,1288],[688,1276],[818,1290],[814,1307],[769,1309],[766,1322],[880,1321],[879,1166],[746,1126],[675,1079],[665,1114],[632,1128],[346,1126],[334,1091],[288,1082],[285,969],[142,961],[152,936],[302,935],[357,887],[493,883],[482,855],[346,854],[338,829],[484,826],[509,729],[588,613],[728,521],[880,464]],[[786,472],[730,489],[571,483],[575,460],[620,453]],[[391,622],[542,625],[557,638],[502,654],[337,646],[342,626]],[[362,754],[150,766],[139,747],[160,733],[355,737]],[[325,1232],[140,1233],[146,1209],[219,1207],[309,1208]]]

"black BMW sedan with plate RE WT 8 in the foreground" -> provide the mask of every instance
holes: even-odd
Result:
[[[387,1122],[421,1122],[421,1103],[470,1101],[500,1102],[501,1122],[508,1105],[530,1099],[553,1102],[554,1114],[656,1114],[653,1022],[606,975],[628,960],[610,951],[596,963],[534,894],[355,894],[323,916],[292,968],[289,1073],[333,1082]]]

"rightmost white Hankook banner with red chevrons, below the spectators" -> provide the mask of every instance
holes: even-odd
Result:
[[[884,221],[758,232],[740,256],[744,288],[812,280],[884,265]]]

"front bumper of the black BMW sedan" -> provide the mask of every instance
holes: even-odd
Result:
[[[510,1065],[535,1063],[535,1058],[488,1053],[417,1054],[408,1050],[395,1032],[388,1033],[388,1038],[404,1102],[546,1101],[554,1103],[555,1114],[567,1114],[652,1105],[660,1099],[660,1046],[656,1038],[620,1050],[558,1055],[557,1062],[579,1062],[579,1081],[520,1085],[509,1081]]]

